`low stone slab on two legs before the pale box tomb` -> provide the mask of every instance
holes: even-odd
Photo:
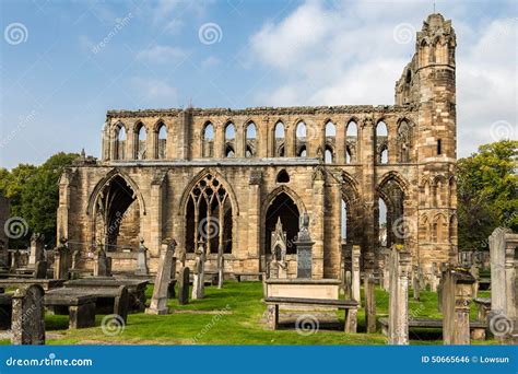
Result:
[[[345,312],[344,331],[356,332],[358,303],[354,300],[302,299],[302,297],[266,297],[264,303],[271,305],[268,323],[270,328],[279,328],[279,305],[329,306]]]

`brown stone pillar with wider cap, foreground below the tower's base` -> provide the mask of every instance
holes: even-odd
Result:
[[[469,271],[449,268],[443,280],[443,342],[470,343],[470,303],[474,279]]]

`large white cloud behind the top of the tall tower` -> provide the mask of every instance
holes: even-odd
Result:
[[[335,1],[332,5],[305,2],[250,37],[249,56],[282,77],[273,90],[259,90],[258,105],[393,103],[395,82],[415,48],[415,37],[398,44],[395,27],[407,23],[421,30],[427,7],[409,1]],[[454,20],[459,45],[460,156],[492,141],[488,128],[494,121],[516,124],[516,21],[496,19],[475,26],[466,21],[468,11],[473,13],[462,2],[443,11]]]

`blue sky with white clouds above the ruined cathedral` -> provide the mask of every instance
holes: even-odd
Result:
[[[98,156],[111,108],[392,104],[433,1],[0,7],[0,166],[11,168],[61,150]],[[437,1],[436,9],[458,37],[459,156],[518,138],[516,3]]]

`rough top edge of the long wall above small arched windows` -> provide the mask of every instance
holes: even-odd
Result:
[[[315,114],[360,114],[360,113],[391,113],[412,112],[411,105],[338,105],[338,106],[290,106],[290,107],[251,107],[245,109],[231,108],[170,108],[170,109],[139,109],[108,110],[106,117],[160,117],[177,116],[181,112],[190,112],[193,116],[246,116],[246,115],[315,115]]]

